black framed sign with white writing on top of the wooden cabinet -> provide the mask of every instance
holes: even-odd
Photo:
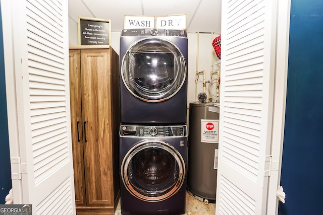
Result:
[[[79,17],[79,45],[110,45],[110,20]]]

